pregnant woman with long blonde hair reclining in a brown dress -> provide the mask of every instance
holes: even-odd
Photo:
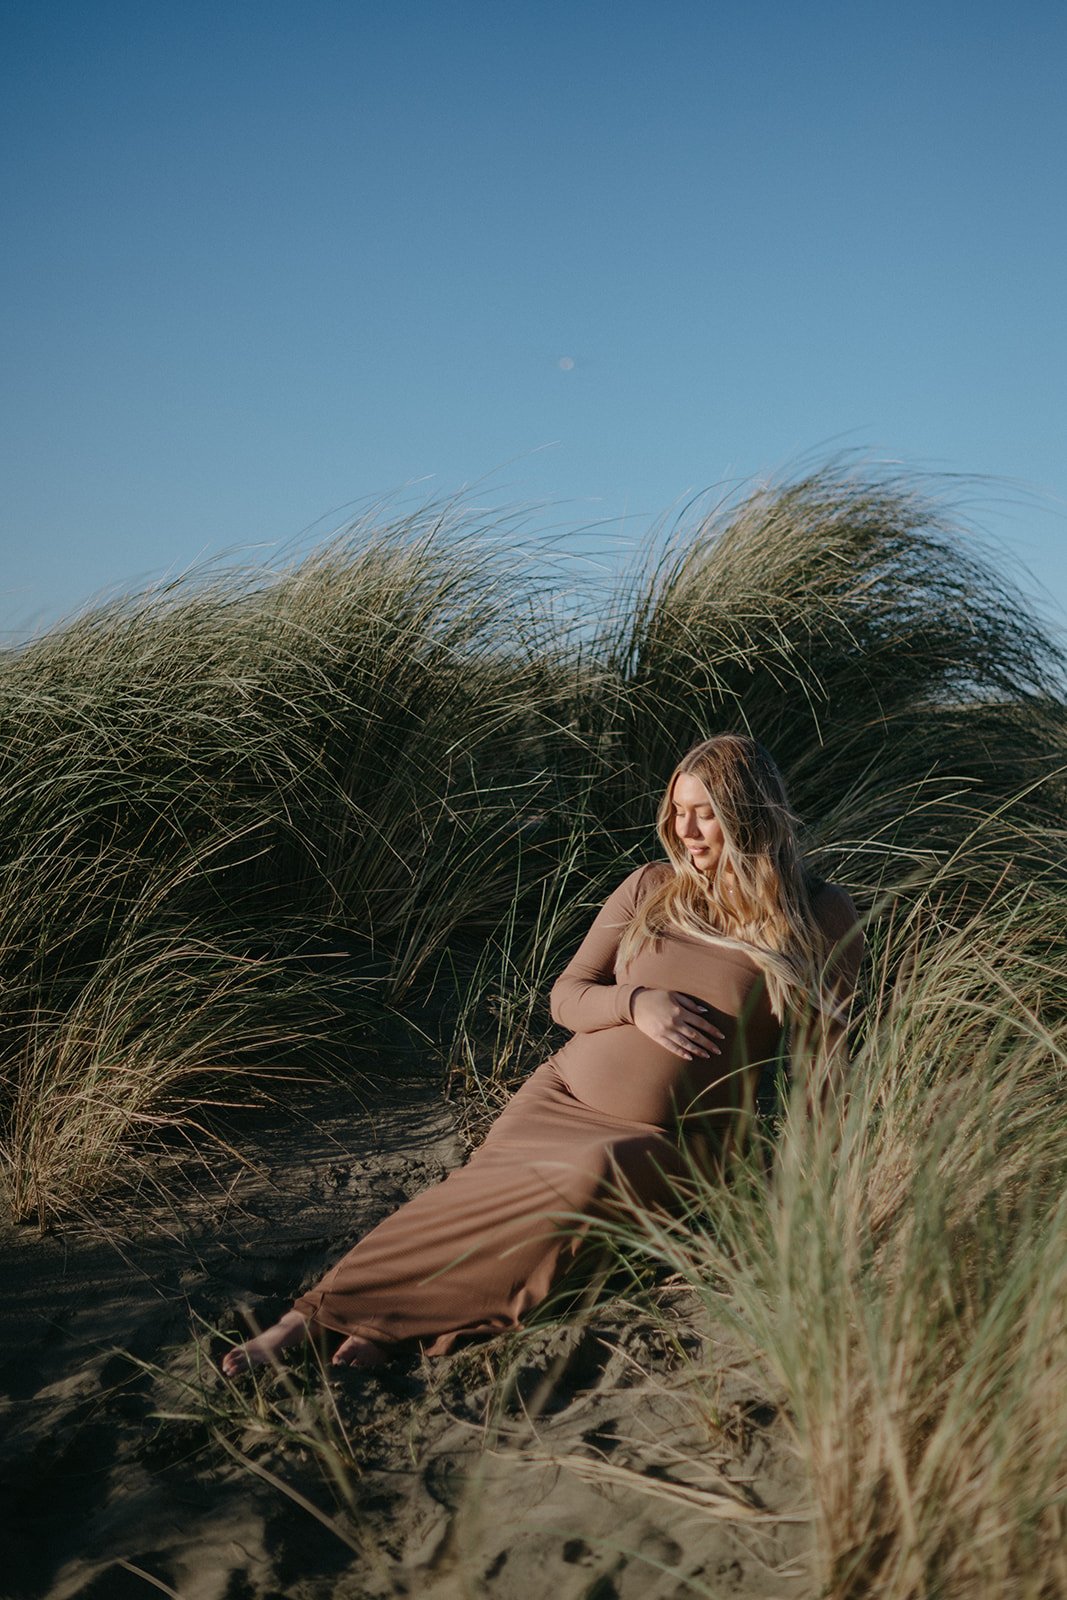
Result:
[[[797,846],[777,766],[720,734],[659,806],[665,861],[630,872],[552,989],[571,1038],[530,1075],[466,1166],[371,1229],[293,1310],[222,1358],[234,1378],[333,1330],[338,1365],[406,1342],[522,1326],[592,1218],[670,1205],[686,1142],[721,1157],[782,1029],[843,1058],[862,934],[848,894]]]

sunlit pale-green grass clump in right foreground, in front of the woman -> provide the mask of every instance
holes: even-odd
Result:
[[[625,1248],[737,1331],[790,1418],[822,1592],[1067,1587],[1067,899],[875,936],[849,1094],[797,1086],[766,1184]]]

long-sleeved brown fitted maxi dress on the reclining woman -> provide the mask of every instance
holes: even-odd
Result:
[[[752,1104],[781,1024],[755,960],[669,934],[625,968],[622,930],[673,869],[651,862],[609,896],[552,989],[573,1038],[539,1066],[466,1166],[371,1229],[296,1301],[314,1326],[446,1354],[461,1334],[522,1325],[574,1259],[590,1218],[670,1203],[686,1128],[721,1141]],[[854,923],[841,890],[816,914],[830,938]],[[630,1021],[638,987],[683,990],[726,1035],[720,1056],[683,1061]]]

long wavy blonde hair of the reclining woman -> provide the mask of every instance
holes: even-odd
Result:
[[[694,866],[675,832],[673,787],[683,773],[704,784],[723,830],[710,874]],[[757,739],[721,733],[696,744],[670,774],[656,818],[673,872],[638,906],[619,941],[619,960],[632,960],[665,933],[683,933],[753,957],[779,1021],[789,1006],[805,1003],[832,1013],[835,1002],[822,978],[829,946],[811,904],[819,878],[805,866],[798,826],[782,774]]]

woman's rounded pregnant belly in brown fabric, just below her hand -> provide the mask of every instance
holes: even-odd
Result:
[[[721,1024],[721,1021],[717,1018]],[[576,1034],[552,1058],[571,1093],[595,1110],[673,1130],[686,1117],[710,1114],[726,1123],[753,1091],[758,1069],[721,1056],[683,1061],[632,1026]]]

